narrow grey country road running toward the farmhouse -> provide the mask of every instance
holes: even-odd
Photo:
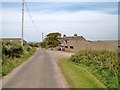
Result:
[[[3,88],[68,88],[54,55],[38,49],[37,53],[3,79]]]

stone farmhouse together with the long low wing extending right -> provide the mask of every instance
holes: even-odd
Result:
[[[117,41],[88,41],[83,36],[73,36],[64,35],[60,40],[60,45],[56,48],[70,51],[70,52],[79,52],[81,50],[117,50],[118,42]]]

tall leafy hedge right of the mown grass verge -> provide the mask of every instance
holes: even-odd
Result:
[[[118,53],[106,50],[84,50],[70,60],[86,67],[108,88],[118,87]]]

